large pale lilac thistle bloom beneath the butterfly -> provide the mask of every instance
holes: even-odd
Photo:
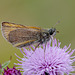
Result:
[[[29,50],[23,48],[21,53],[23,58],[18,60],[20,63],[18,68],[22,68],[23,75],[64,75],[72,74],[75,71],[75,66],[72,66],[75,61],[75,56],[71,56],[75,49],[71,51],[70,45],[60,48],[60,42],[54,39],[48,42],[43,48],[39,46],[33,51],[30,47]],[[34,46],[32,47],[34,49]]]

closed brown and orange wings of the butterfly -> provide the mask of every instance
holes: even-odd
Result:
[[[3,36],[14,46],[23,47],[37,42],[40,38],[41,28],[24,26],[9,22],[2,23]]]

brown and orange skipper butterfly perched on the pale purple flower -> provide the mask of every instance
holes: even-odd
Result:
[[[22,48],[31,44],[47,43],[56,35],[56,29],[42,29],[40,27],[25,26],[10,22],[2,22],[2,35],[13,46]]]

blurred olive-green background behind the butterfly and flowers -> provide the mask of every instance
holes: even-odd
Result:
[[[51,28],[56,25],[60,32],[55,38],[61,41],[61,47],[69,45],[75,48],[75,0],[0,0],[0,26],[3,21],[41,28]],[[17,62],[19,49],[13,47],[2,36],[0,31],[0,63],[8,61],[9,67]]]

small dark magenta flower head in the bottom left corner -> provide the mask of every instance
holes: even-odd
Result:
[[[9,68],[7,67],[7,70],[4,69],[3,75],[21,75],[20,70],[17,70],[15,67]]]

